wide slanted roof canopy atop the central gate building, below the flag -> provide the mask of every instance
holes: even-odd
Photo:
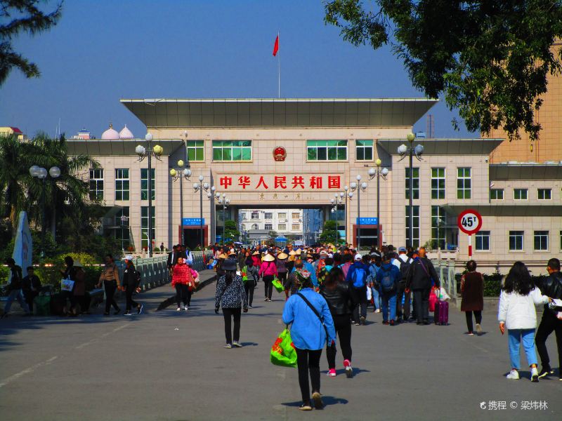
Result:
[[[427,98],[122,99],[147,127],[411,127]]]

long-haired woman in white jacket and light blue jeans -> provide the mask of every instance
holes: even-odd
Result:
[[[497,320],[502,335],[507,328],[509,358],[511,371],[507,375],[510,380],[519,379],[519,349],[523,349],[531,368],[531,381],[539,381],[537,370],[537,354],[535,352],[535,330],[537,328],[537,311],[535,305],[547,304],[549,298],[542,295],[532,283],[531,276],[523,262],[515,262],[509,270],[502,293],[499,295]]]

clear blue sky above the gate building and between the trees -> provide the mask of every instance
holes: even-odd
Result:
[[[50,32],[15,40],[41,77],[11,72],[0,126],[54,135],[60,119],[67,136],[100,137],[112,121],[141,137],[119,98],[277,98],[277,31],[282,98],[423,96],[390,48],[346,43],[323,11],[320,0],[67,0]],[[478,137],[452,128],[443,100],[430,112],[436,137]],[[414,130],[425,129],[424,116]]]

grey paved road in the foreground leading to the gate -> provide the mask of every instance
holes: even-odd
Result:
[[[139,316],[0,321],[0,420],[556,420],[558,377],[531,383],[503,375],[507,338],[495,314],[488,333],[468,337],[464,314],[450,326],[383,326],[370,313],[353,328],[355,377],[343,367],[322,375],[327,407],[301,413],[296,370],[269,362],[282,330],[281,295],[242,317],[242,349],[223,349],[223,319],[214,314],[214,283],[194,295],[190,314],[155,312],[163,286],[141,295]],[[16,305],[17,307],[17,305]],[[554,338],[549,340],[551,356]],[[524,357],[523,357],[524,358]],[[338,354],[341,364],[341,354]],[[525,361],[524,359],[522,361]],[[321,369],[327,370],[322,355]],[[528,373],[526,373],[528,375]],[[504,410],[481,402],[506,401]],[[547,410],[510,409],[515,401],[547,401]]]

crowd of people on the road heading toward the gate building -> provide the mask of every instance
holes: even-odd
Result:
[[[282,321],[292,325],[291,335],[296,350],[296,364],[301,387],[301,410],[322,408],[320,395],[320,359],[326,345],[329,377],[336,376],[336,339],[343,356],[344,372],[353,377],[352,326],[367,323],[367,309],[381,314],[385,326],[401,323],[430,323],[431,312],[448,311],[440,304],[447,300],[447,291],[440,285],[435,267],[426,256],[426,250],[384,246],[372,248],[362,255],[351,245],[336,247],[326,244],[314,248],[293,246],[254,246],[212,248],[213,258],[207,268],[216,272],[215,312],[222,308],[225,328],[225,348],[242,347],[240,343],[240,321],[242,312],[248,312],[254,302],[254,291],[263,281],[263,301],[273,302],[275,297],[285,300]],[[133,300],[141,274],[133,266],[133,258],[124,258],[126,268],[119,278],[119,271],[111,255],[105,258],[105,267],[98,287],[105,288],[105,315],[121,309],[115,301],[115,292],[124,290],[126,295],[125,315],[131,310],[143,310],[141,303]],[[167,267],[171,286],[176,290],[178,312],[188,312],[193,290],[199,283],[199,274],[192,267],[192,254],[182,246],[174,246],[168,255]],[[22,277],[21,268],[13,259],[6,262],[11,270],[8,285],[8,300],[4,314],[18,300],[27,314],[32,311],[34,298],[41,290],[41,283],[33,267],[27,268]],[[546,341],[551,333],[556,334],[558,365],[562,366],[562,274],[560,261],[553,258],[547,262],[549,276],[535,285],[523,262],[515,262],[502,282],[499,297],[499,330],[508,335],[511,370],[507,379],[520,378],[519,352],[523,345],[532,382],[554,374],[547,352]],[[76,315],[80,307],[88,308],[84,302],[84,271],[80,262],[70,256],[65,258],[65,268],[60,271],[63,279],[72,280],[72,288],[63,290],[64,313]],[[483,333],[484,277],[477,272],[477,263],[466,263],[462,275],[461,311],[466,313],[467,335]],[[280,295],[273,295],[273,290]],[[544,305],[542,319],[537,329],[535,305]],[[440,314],[442,316],[442,314]],[[439,318],[441,319],[441,317]],[[476,326],[473,325],[473,319]],[[446,320],[446,319],[445,319]],[[445,323],[446,324],[446,323]],[[541,370],[538,370],[537,354]],[[559,374],[562,380],[562,374]],[[308,379],[310,377],[309,386]],[[312,394],[311,394],[312,392]]]

